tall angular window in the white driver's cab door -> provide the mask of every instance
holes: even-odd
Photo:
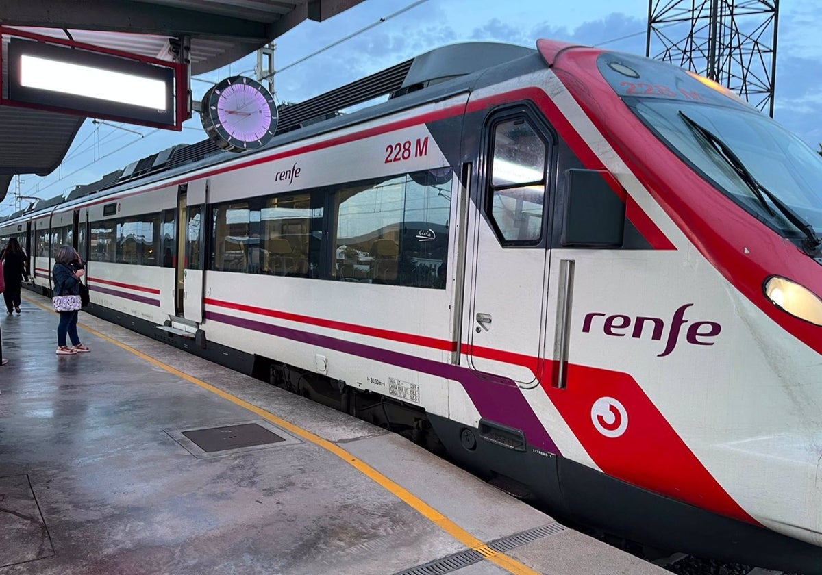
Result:
[[[524,118],[494,128],[489,211],[502,242],[538,243],[543,231],[546,145]]]

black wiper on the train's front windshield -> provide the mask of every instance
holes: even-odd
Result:
[[[778,196],[774,194],[774,192],[763,186],[759,180],[757,180],[754,175],[750,173],[748,168],[746,168],[745,163],[742,163],[742,160],[739,159],[739,156],[734,154],[733,150],[731,150],[731,148],[723,142],[723,140],[720,140],[719,137],[712,131],[709,131],[706,127],[700,126],[700,124],[688,117],[686,113],[681,110],[679,111],[679,116],[686,122],[691,130],[702,136],[704,140],[706,140],[713,147],[713,149],[718,152],[718,154],[727,162],[733,171],[737,173],[737,176],[739,176],[741,181],[745,182],[746,186],[750,188],[750,191],[753,192],[756,199],[760,200],[760,204],[762,204],[764,209],[768,210],[770,215],[775,216],[776,214],[774,214],[773,209],[770,209],[768,200],[771,200],[779,211],[782,212],[787,221],[792,223],[800,232],[805,234],[805,241],[802,242],[802,249],[807,255],[820,255],[822,239],[816,235],[816,232],[810,223],[807,223],[799,214],[789,208],[787,204],[785,204],[779,199]],[[768,200],[765,200],[765,196],[768,197]]]

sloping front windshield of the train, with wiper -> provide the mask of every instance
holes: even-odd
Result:
[[[786,237],[804,237],[802,224],[822,232],[822,158],[797,136],[676,67],[604,54],[600,71],[660,140],[750,214]]]

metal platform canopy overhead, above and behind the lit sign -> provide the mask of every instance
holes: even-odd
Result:
[[[163,60],[187,36],[196,76],[253,53],[302,21],[325,21],[362,1],[0,0],[0,25]],[[7,43],[4,36],[4,74]],[[15,174],[53,172],[84,120],[0,106],[0,201]]]

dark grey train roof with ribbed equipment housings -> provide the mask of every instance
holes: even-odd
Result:
[[[505,76],[513,76],[520,72],[510,64],[518,60],[528,62],[524,64],[526,70],[544,67],[536,49],[515,44],[469,42],[434,48],[304,102],[281,105],[278,109],[279,121],[275,137],[261,150],[244,154],[243,157],[364,122],[372,117],[412,108],[420,103],[473,90],[478,87],[478,80],[482,77],[485,77],[484,85]],[[495,67],[499,68],[497,73],[488,75]],[[353,113],[342,113],[346,108],[385,96],[388,97],[386,102]],[[93,194],[115,193],[134,186],[136,182],[141,185],[155,182],[238,158],[238,154],[221,150],[212,140],[201,140],[192,145],[175,145],[136,160],[122,170],[106,174],[96,182],[75,186],[67,196],[40,200],[29,209],[0,219],[0,226],[22,217],[28,219],[37,212],[52,210],[58,205],[65,204],[68,207],[81,204],[87,196]]]

